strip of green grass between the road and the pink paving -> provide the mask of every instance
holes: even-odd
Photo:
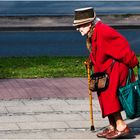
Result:
[[[86,77],[87,57],[1,57],[0,78]],[[138,56],[140,60],[140,56]],[[139,61],[140,62],[140,61]],[[137,69],[134,69],[137,73]]]

